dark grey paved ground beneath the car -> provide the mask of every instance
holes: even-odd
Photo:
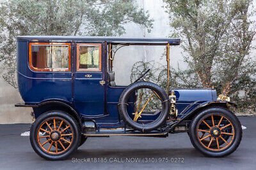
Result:
[[[90,138],[68,160],[47,161],[36,155],[28,137],[20,136],[30,125],[0,125],[0,169],[256,169],[256,117],[239,119],[247,127],[241,145],[224,158],[204,157],[184,133],[168,138]],[[182,159],[177,163],[149,163],[150,159],[162,158]],[[88,159],[90,162],[76,162]]]

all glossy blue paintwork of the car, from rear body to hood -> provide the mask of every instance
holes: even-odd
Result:
[[[58,43],[65,42],[72,45],[71,69],[68,72],[36,72],[29,68],[29,42],[54,42],[54,38],[22,37],[17,39],[17,78],[19,92],[26,104],[36,106],[44,101],[63,101],[76,110],[82,119],[93,119],[100,127],[116,128],[124,125],[119,117],[117,106],[120,94],[126,86],[109,87],[106,80],[107,72],[107,45],[113,43],[113,38],[100,38],[100,41],[92,41],[92,38],[67,38],[58,37]],[[128,41],[129,39],[119,39]],[[139,41],[140,39],[137,39]],[[163,43],[166,39],[155,39]],[[167,39],[168,40],[168,39]],[[170,39],[169,39],[170,40]],[[168,40],[168,41],[169,41]],[[116,40],[117,41],[117,40]],[[154,39],[147,39],[147,43]],[[171,40],[170,40],[171,41]],[[100,72],[76,71],[76,43],[102,43],[102,68]],[[141,40],[141,42],[143,42]],[[174,42],[174,40],[173,40]],[[179,41],[175,41],[178,42]],[[166,42],[165,42],[166,43]],[[175,43],[173,43],[175,44]],[[86,74],[92,76],[87,77]],[[100,85],[99,81],[106,81]],[[171,89],[177,96],[178,118],[191,113],[202,104],[216,101],[214,89]],[[135,94],[134,94],[135,95]],[[134,112],[134,96],[129,99],[129,112]],[[36,115],[38,117],[39,115]],[[154,118],[154,117],[150,117]],[[148,118],[150,120],[150,118]]]

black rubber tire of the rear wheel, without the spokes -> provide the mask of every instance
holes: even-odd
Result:
[[[62,152],[60,151],[60,153],[47,152],[47,150],[44,150],[44,148],[42,148],[42,145],[38,142],[38,133],[40,132],[40,127],[45,124],[45,121],[47,122],[52,119],[63,120],[65,123],[67,122],[67,124],[70,126],[70,131],[72,132],[72,141],[70,142],[70,146],[68,146],[66,150],[63,150]],[[47,111],[40,115],[38,118],[36,118],[35,122],[31,126],[29,138],[33,150],[35,150],[35,152],[40,155],[40,157],[47,160],[64,160],[71,153],[77,150],[77,147],[79,146],[81,141],[81,131],[76,120],[68,115],[68,113],[65,113],[63,111]],[[52,141],[52,143],[54,142]],[[59,148],[58,141],[56,143],[57,148]]]

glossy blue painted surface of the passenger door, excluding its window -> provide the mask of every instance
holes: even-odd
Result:
[[[97,42],[97,44],[102,42]],[[74,44],[76,46],[76,44]],[[76,49],[74,48],[74,67],[76,68],[76,63],[78,56],[76,56]],[[104,51],[104,48],[101,49]],[[105,111],[105,87],[106,84],[100,85],[100,81],[105,81],[104,78],[104,63],[105,55],[100,56],[102,64],[99,72],[93,71],[76,71],[74,69],[74,106],[82,117],[102,117],[103,115],[108,115]],[[90,75],[89,77],[87,77]]]

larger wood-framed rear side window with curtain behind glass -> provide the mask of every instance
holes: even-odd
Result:
[[[29,43],[34,71],[70,71],[70,43]]]

